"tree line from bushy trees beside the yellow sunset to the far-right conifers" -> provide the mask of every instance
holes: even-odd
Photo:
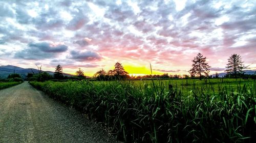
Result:
[[[203,77],[209,77],[209,78],[218,78],[219,74],[216,73],[214,76],[209,75],[210,72],[210,66],[207,63],[206,57],[204,57],[201,53],[198,53],[197,56],[192,60],[192,68],[188,71],[189,75],[168,75],[167,73],[164,73],[162,75],[144,75],[144,76],[129,76],[128,73],[123,69],[120,63],[116,63],[115,69],[110,70],[108,72],[105,72],[103,69],[97,71],[94,74],[94,77],[97,80],[111,80],[111,79],[141,79],[141,78],[199,78],[200,80]],[[225,77],[229,78],[241,78],[245,77],[245,72],[243,71],[248,66],[245,66],[243,64],[242,58],[239,54],[231,54],[231,56],[228,59],[228,63],[226,66],[226,75]],[[252,78],[255,75],[252,75]],[[248,75],[247,75],[248,77]]]

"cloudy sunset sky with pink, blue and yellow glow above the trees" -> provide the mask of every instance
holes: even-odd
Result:
[[[0,65],[88,76],[120,62],[130,74],[210,73],[233,53],[256,69],[256,1],[0,1]]]

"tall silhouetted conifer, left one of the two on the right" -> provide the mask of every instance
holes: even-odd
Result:
[[[206,57],[203,58],[201,53],[198,53],[197,56],[192,60],[192,68],[189,70],[191,77],[199,76],[200,80],[202,80],[202,74],[208,76],[210,72],[210,66],[206,63]]]

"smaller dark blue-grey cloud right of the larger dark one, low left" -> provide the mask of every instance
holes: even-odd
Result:
[[[101,56],[96,53],[96,52],[92,52],[92,51],[85,51],[85,52],[79,52],[79,51],[71,51],[70,52],[70,59],[73,60],[77,60],[79,62],[83,62],[83,61],[95,61],[95,60],[101,60]]]

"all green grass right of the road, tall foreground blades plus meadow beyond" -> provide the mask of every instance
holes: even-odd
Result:
[[[256,139],[254,80],[30,83],[88,113],[125,142],[253,142]]]

